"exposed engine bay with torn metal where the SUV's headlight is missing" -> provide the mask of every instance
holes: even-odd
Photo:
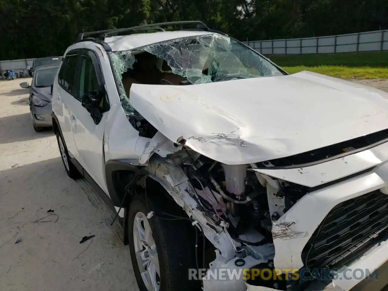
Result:
[[[152,160],[150,159],[151,165]],[[158,176],[160,170],[161,175],[169,180],[166,175],[169,171],[166,169],[169,168],[168,164],[172,164],[171,166],[182,169],[182,173],[175,170],[173,174],[185,175],[187,182],[192,185],[192,188],[188,187],[184,192],[194,199],[197,212],[189,210],[192,206],[187,207],[179,201],[177,203],[192,219],[198,220],[199,229],[215,246],[213,250],[216,258],[210,260],[209,268],[274,270],[273,222],[305,194],[303,186],[257,173],[252,170],[255,164],[225,165],[185,147],[168,156],[163,164],[159,162],[162,159],[157,160],[156,164],[149,166],[151,173]],[[180,181],[174,182],[185,187]],[[288,195],[284,195],[284,191]],[[188,199],[180,198],[187,203]],[[206,218],[207,222],[199,216]],[[211,281],[204,284],[211,284]],[[263,281],[257,277],[255,282],[249,284],[287,290],[286,281],[280,286],[279,281]]]

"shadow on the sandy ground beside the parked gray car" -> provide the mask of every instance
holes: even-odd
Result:
[[[0,144],[40,139],[54,135],[52,130],[35,132],[30,113],[0,118]]]

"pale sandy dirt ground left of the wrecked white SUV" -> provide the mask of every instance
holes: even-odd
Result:
[[[0,290],[138,290],[120,227],[67,177],[54,133],[34,132],[22,81],[0,81]]]

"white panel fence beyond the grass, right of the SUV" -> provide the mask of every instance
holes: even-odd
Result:
[[[263,55],[336,54],[388,50],[388,30],[245,42]]]

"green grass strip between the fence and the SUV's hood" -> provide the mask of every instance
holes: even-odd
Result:
[[[290,74],[306,70],[339,78],[388,79],[388,52],[268,57]]]

